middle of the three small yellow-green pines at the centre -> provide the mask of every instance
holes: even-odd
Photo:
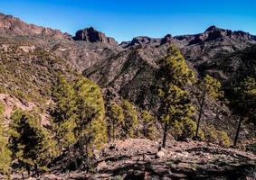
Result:
[[[125,122],[123,130],[125,131],[126,138],[134,138],[137,135],[137,110],[136,107],[128,101],[123,101],[122,108],[124,111]]]

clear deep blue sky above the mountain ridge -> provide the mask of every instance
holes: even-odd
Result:
[[[119,42],[205,31],[256,34],[256,0],[0,0],[0,12],[71,33],[89,26]]]

